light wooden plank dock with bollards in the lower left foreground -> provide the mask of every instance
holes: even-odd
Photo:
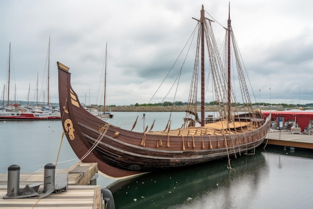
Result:
[[[52,192],[44,197],[43,182],[44,169],[33,173],[19,174],[19,189],[26,188],[26,185],[40,184],[37,196],[23,198],[3,198],[7,195],[8,173],[0,173],[0,208],[77,208],[77,209],[101,209],[104,208],[101,187],[96,184],[97,163],[77,162],[70,168],[56,168],[55,177],[58,174],[65,174],[67,177],[66,189]],[[56,186],[56,183],[55,183]],[[54,188],[53,188],[54,189]]]

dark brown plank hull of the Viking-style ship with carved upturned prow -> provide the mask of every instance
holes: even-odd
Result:
[[[186,129],[165,133],[128,131],[83,109],[71,88],[70,73],[62,64],[58,64],[58,79],[62,126],[72,149],[82,159],[91,148],[82,162],[97,162],[99,171],[114,178],[247,152],[262,143],[270,125],[267,119],[257,129],[235,130],[236,134],[208,134],[211,132],[203,127],[189,128],[188,134],[183,133]]]

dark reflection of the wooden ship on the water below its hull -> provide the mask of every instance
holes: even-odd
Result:
[[[116,208],[229,208],[248,204],[257,194],[267,173],[261,151],[185,169],[148,173],[115,182],[112,191]],[[246,207],[243,206],[243,207]]]

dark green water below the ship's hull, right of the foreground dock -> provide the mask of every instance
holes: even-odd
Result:
[[[266,151],[265,151],[266,150]],[[311,208],[312,152],[259,148],[254,155],[115,182],[116,208]]]

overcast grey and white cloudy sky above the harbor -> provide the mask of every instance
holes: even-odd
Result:
[[[103,88],[106,43],[106,105],[172,101],[164,95],[174,74],[150,99],[194,30],[192,18],[199,18],[203,5],[216,20],[219,43],[224,36],[219,24],[226,27],[229,2],[232,29],[254,92],[251,101],[313,103],[313,2],[307,0],[0,1],[0,95],[7,86],[11,43],[10,83],[16,90],[10,89],[17,100],[36,100],[36,86],[43,91],[50,38],[50,102],[58,102],[59,61],[70,68],[80,102],[103,104],[98,92]],[[183,93],[175,101],[187,101],[190,76],[181,74]]]

